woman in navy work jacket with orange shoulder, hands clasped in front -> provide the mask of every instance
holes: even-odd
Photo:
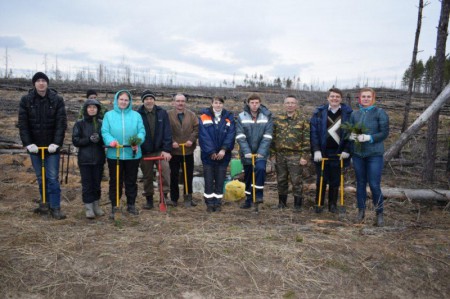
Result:
[[[198,137],[205,178],[203,196],[208,212],[221,210],[223,184],[234,148],[234,116],[223,109],[223,104],[222,98],[214,97],[211,107],[201,111],[199,120]]]

